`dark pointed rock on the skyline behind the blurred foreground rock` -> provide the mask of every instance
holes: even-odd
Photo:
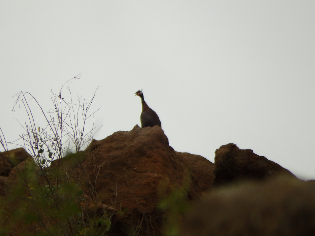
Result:
[[[229,143],[215,151],[214,184],[225,184],[240,179],[263,179],[275,174],[294,176],[279,164],[250,149],[239,149]]]

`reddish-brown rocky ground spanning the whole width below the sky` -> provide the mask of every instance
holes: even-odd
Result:
[[[75,183],[79,189],[70,200],[62,199],[79,205],[82,220],[66,218],[69,227],[60,235],[92,235],[87,231],[91,227],[84,226],[87,219],[96,218],[102,219],[96,228],[107,228],[93,235],[315,235],[313,181],[301,181],[277,163],[232,143],[217,149],[212,163],[176,152],[158,126],[135,126],[93,140],[85,151],[54,160],[42,170],[25,149],[3,152],[2,202],[18,183],[25,183],[25,196],[35,199],[35,187],[30,187],[34,183],[21,174],[26,168],[38,176],[39,186],[61,189]],[[52,197],[56,204],[56,190],[46,188],[44,198]],[[35,235],[62,225],[62,216],[43,216],[43,209],[36,211],[36,220],[14,222],[13,209],[2,203],[3,235]],[[75,231],[77,224],[84,230]]]

